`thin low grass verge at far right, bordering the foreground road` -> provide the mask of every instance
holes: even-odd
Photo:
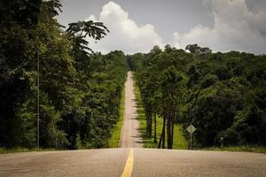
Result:
[[[242,152],[256,152],[256,153],[266,153],[265,146],[230,146],[230,147],[223,147],[223,148],[206,148],[200,150],[218,150],[218,151],[242,151]]]

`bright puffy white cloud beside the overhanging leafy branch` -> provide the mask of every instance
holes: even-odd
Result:
[[[90,19],[95,20],[96,18],[94,15],[90,15],[85,20]],[[154,45],[163,46],[162,39],[155,32],[153,25],[138,26],[134,20],[129,19],[129,13],[121,9],[119,4],[113,2],[105,4],[98,21],[104,22],[110,33],[97,43],[89,40],[92,50],[104,53],[111,50],[135,53],[147,52]]]

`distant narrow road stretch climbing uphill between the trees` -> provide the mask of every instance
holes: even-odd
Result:
[[[134,94],[132,73],[128,73],[125,85],[125,112],[121,128],[121,148],[142,148],[142,137],[137,120],[137,104]]]

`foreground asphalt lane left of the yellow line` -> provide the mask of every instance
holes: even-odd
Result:
[[[66,150],[0,155],[0,176],[120,176],[129,150]]]

